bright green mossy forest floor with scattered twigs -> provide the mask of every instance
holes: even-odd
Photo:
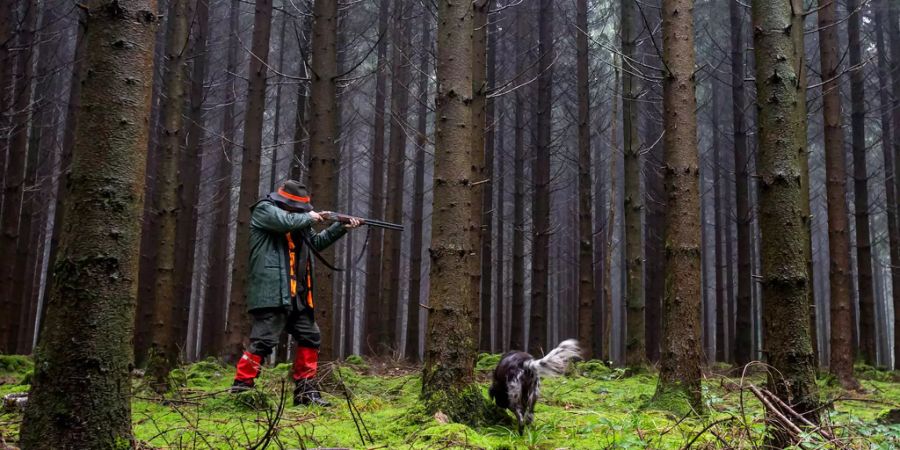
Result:
[[[479,359],[485,397],[497,360],[497,355]],[[0,355],[0,396],[26,392],[31,366],[25,357]],[[180,387],[165,396],[135,378],[132,414],[139,448],[757,448],[764,440],[762,405],[741,387],[762,387],[761,370],[746,377],[724,366],[711,371],[704,383],[706,413],[678,417],[647,405],[657,381],[652,371],[628,374],[583,362],[568,376],[544,381],[534,424],[520,435],[512,421],[472,428],[426,415],[418,402],[415,367],[359,357],[326,365],[321,371],[327,375],[323,389],[330,408],[292,407],[288,369],[287,364],[269,368],[258,389],[238,395],[227,393],[232,369],[214,361],[175,371]],[[846,392],[830,377],[820,378],[828,405],[826,434],[834,440],[806,432],[808,445],[802,448],[900,448],[900,425],[886,419],[895,415],[888,411],[900,408],[900,372],[858,366],[857,373],[862,392]],[[21,418],[15,408],[4,409],[0,448],[3,439],[14,445]]]

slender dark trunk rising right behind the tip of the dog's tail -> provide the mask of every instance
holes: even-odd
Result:
[[[578,0],[575,47],[578,93],[578,340],[582,356],[594,355],[594,230],[591,211],[591,94],[587,0]],[[502,248],[502,247],[501,247]]]

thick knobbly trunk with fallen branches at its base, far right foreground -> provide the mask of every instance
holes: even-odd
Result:
[[[810,289],[805,260],[801,159],[806,156],[803,7],[800,0],[753,4],[756,90],[759,103],[759,227],[763,341],[768,362],[783,377],[769,389],[807,418],[818,400],[809,336]],[[786,33],[785,30],[790,30]],[[787,437],[774,434],[775,445]]]

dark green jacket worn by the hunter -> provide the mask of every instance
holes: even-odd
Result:
[[[271,200],[261,200],[253,206],[250,216],[250,274],[247,283],[247,309],[290,306],[290,264],[288,263],[287,233],[300,233],[316,248],[328,248],[347,233],[344,226],[334,223],[318,233],[312,233],[314,221],[306,213],[292,213],[279,208]],[[302,240],[295,240],[297,255],[301,260],[314,261],[310,252],[299,247]],[[313,270],[310,276],[315,273]],[[298,277],[300,274],[298,274]],[[315,285],[315,282],[312,283]]]

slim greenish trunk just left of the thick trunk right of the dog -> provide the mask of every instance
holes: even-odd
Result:
[[[641,214],[644,198],[641,195],[641,141],[638,132],[639,72],[635,64],[637,30],[635,27],[634,0],[622,0],[622,153],[625,159],[625,261],[627,272],[625,308],[626,337],[625,364],[638,367],[646,364],[647,351],[644,341],[644,255]]]

